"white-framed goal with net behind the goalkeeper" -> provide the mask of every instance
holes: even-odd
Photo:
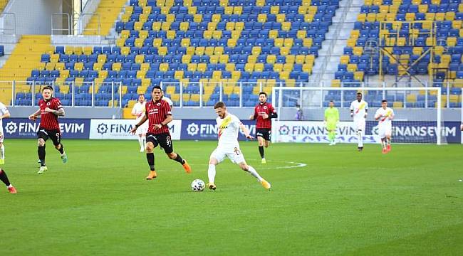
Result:
[[[395,114],[393,143],[445,144],[447,135],[459,133],[442,122],[440,87],[274,87],[272,103],[279,117],[272,125],[272,141],[329,143],[324,112],[332,101],[340,114],[335,141],[357,143],[350,105],[358,92],[368,103],[364,143],[380,142],[374,116],[383,100]]]

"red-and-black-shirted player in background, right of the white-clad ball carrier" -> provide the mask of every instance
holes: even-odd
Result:
[[[254,114],[249,117],[256,121],[256,137],[259,142],[259,154],[261,154],[262,164],[266,164],[264,156],[264,146],[269,147],[271,140],[271,119],[276,118],[276,110],[267,102],[266,92],[259,92],[259,104],[254,107]]]

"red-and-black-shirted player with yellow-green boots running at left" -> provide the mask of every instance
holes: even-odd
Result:
[[[64,117],[64,109],[61,106],[61,101],[52,97],[53,88],[51,86],[43,87],[42,100],[38,101],[39,109],[29,116],[29,119],[35,121],[38,116],[41,116],[40,127],[38,128],[38,159],[40,160],[40,169],[37,174],[43,174],[47,171],[45,164],[45,142],[48,138],[51,139],[55,148],[61,154],[63,163],[68,161],[68,156],[64,152],[63,144],[61,144],[61,130],[58,123],[58,117]]]

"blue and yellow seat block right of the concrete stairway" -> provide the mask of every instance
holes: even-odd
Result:
[[[340,57],[333,86],[341,82],[358,86],[365,75],[432,75],[433,86],[442,86],[444,105],[449,97],[449,107],[461,107],[462,20],[459,0],[365,1]],[[447,81],[451,82],[449,91]],[[437,95],[429,96],[428,107],[435,107]],[[406,97],[412,107],[425,107],[425,95]],[[377,100],[375,95],[368,98]],[[401,98],[390,100],[396,107],[402,105]]]

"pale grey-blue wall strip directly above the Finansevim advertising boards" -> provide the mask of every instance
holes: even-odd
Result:
[[[36,107],[9,107],[12,117],[28,117],[29,114],[37,110]],[[347,108],[340,108],[341,121],[350,121],[350,111]],[[229,111],[240,119],[248,119],[254,113],[253,107],[229,107]],[[370,117],[376,108],[370,108]],[[397,120],[407,121],[434,121],[436,119],[435,109],[396,109]],[[66,107],[66,118],[122,118],[123,110],[120,108],[109,107]],[[279,113],[281,120],[294,120],[296,108],[283,108]],[[173,114],[175,119],[215,119],[216,115],[212,107],[174,107]],[[303,109],[305,120],[323,120],[324,109]],[[459,109],[443,109],[442,120],[448,122],[461,122],[461,111]]]

